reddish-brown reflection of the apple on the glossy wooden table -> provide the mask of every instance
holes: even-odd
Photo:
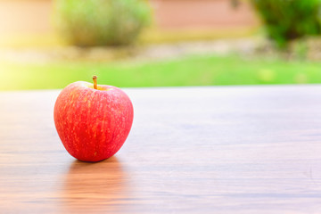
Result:
[[[127,194],[126,172],[116,157],[96,163],[73,161],[62,185],[62,211],[119,212]]]

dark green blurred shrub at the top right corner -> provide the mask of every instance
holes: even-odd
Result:
[[[251,0],[268,37],[281,48],[297,38],[320,33],[320,0]]]

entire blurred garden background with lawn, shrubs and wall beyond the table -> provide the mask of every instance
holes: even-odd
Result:
[[[321,83],[320,0],[0,0],[0,90]]]

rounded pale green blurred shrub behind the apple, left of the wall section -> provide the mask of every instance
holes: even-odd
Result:
[[[144,0],[54,0],[53,19],[72,45],[128,45],[151,20]]]

